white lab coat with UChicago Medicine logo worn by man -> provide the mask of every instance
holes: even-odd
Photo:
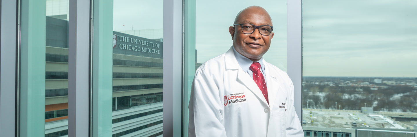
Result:
[[[303,137],[288,75],[264,61],[269,104],[233,49],[196,71],[189,103],[189,137]]]

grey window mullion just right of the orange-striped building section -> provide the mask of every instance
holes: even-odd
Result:
[[[88,137],[90,1],[69,2],[68,136]]]

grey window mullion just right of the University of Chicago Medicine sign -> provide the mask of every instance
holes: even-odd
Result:
[[[163,0],[163,136],[181,136],[182,0]]]

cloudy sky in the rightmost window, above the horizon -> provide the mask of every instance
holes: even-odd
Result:
[[[417,77],[416,1],[303,1],[303,76]]]

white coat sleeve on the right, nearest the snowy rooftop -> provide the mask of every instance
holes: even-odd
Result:
[[[289,111],[286,119],[286,137],[304,137],[304,132],[301,127],[300,120],[295,113],[294,108],[294,85],[291,83],[289,94]]]

